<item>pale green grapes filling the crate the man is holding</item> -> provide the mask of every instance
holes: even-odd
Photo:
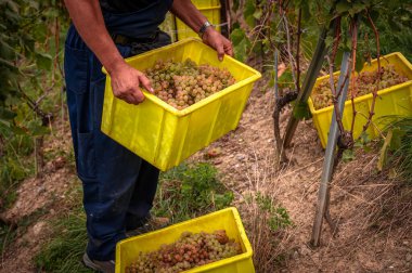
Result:
[[[157,61],[144,73],[152,81],[155,94],[177,109],[183,109],[235,82],[227,69],[207,64],[197,66],[190,58],[182,63]]]

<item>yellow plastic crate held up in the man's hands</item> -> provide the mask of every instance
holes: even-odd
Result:
[[[255,69],[217,53],[198,39],[186,39],[130,57],[132,67],[144,70],[158,60],[184,61],[227,68],[236,83],[182,110],[178,110],[154,94],[128,104],[113,95],[111,78],[106,78],[102,131],[160,170],[178,166],[185,158],[237,127],[253,82],[261,77]]]

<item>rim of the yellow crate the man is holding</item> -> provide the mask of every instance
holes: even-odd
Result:
[[[209,46],[203,43],[199,38],[190,37],[190,38],[185,38],[185,39],[182,39],[180,41],[173,42],[171,44],[168,44],[168,46],[165,46],[165,47],[162,47],[162,48],[158,48],[158,49],[150,50],[150,51],[144,52],[142,54],[125,58],[125,61],[127,63],[128,62],[133,62],[136,60],[145,57],[147,55],[156,54],[156,52],[163,51],[163,50],[165,50],[167,48],[175,48],[177,46],[181,46],[181,44],[190,43],[190,42],[197,42],[197,43],[199,43],[199,44],[202,44],[204,47],[207,47],[207,48],[209,48],[209,49],[211,49],[213,51],[216,52],[216,50],[214,50]],[[253,76],[247,77],[246,79],[243,79],[241,81],[237,81],[234,84],[229,86],[226,89],[220,90],[219,92],[217,92],[217,93],[215,93],[213,95],[209,95],[209,96],[207,96],[207,98],[198,101],[197,103],[194,103],[191,106],[189,106],[189,107],[186,107],[184,109],[181,109],[181,110],[179,110],[179,109],[172,107],[171,105],[167,104],[166,102],[162,101],[159,98],[157,98],[155,94],[152,94],[151,92],[149,92],[147,90],[145,90],[143,87],[141,88],[141,91],[143,92],[144,96],[147,100],[150,100],[151,102],[157,104],[158,106],[163,107],[164,109],[166,109],[167,112],[173,114],[175,116],[183,117],[183,116],[186,116],[190,113],[196,110],[197,108],[202,108],[203,106],[205,106],[206,104],[210,103],[211,101],[215,101],[218,98],[224,96],[226,94],[231,93],[231,92],[237,90],[240,87],[244,87],[244,86],[249,84],[249,83],[252,83],[252,82],[254,82],[254,81],[256,81],[256,80],[258,80],[258,79],[261,78],[261,74],[258,70],[249,67],[248,65],[243,64],[242,62],[235,60],[234,57],[231,57],[230,55],[224,55],[224,58],[229,58],[230,62],[233,62],[233,63],[242,66],[243,68],[249,70],[250,73],[253,73]],[[104,67],[102,67],[102,72],[106,75],[106,78],[111,82],[111,77],[107,74],[107,70]],[[117,99],[117,100],[119,100],[119,99]],[[142,103],[144,103],[144,101]],[[139,106],[139,105],[134,105],[134,106]]]

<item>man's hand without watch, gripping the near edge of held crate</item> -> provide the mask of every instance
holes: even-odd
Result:
[[[139,104],[144,101],[144,95],[140,90],[140,86],[153,93],[150,80],[143,73],[123,63],[112,74],[113,94],[130,104]]]

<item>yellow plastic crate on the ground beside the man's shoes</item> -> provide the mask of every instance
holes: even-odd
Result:
[[[124,273],[126,266],[133,262],[140,251],[157,250],[163,244],[176,242],[185,231],[211,233],[216,230],[226,230],[229,238],[233,238],[241,244],[242,253],[184,272],[254,273],[252,246],[247,239],[241,217],[234,207],[119,242],[116,246],[116,273]]]

